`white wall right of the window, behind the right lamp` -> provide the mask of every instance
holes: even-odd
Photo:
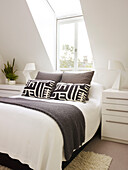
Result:
[[[108,71],[109,59],[128,68],[128,1],[80,0],[97,71],[96,80],[111,87],[117,72]],[[128,87],[128,72],[122,83]]]

